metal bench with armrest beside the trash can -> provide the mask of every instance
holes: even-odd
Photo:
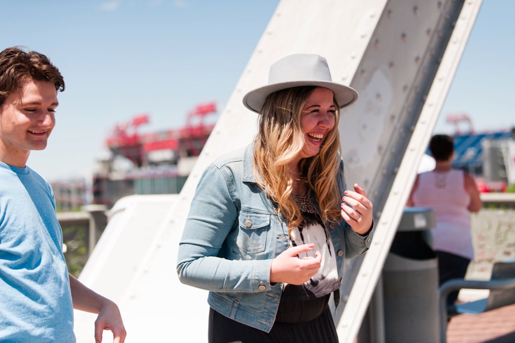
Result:
[[[489,289],[488,298],[453,306],[447,305],[447,297],[461,288]],[[440,286],[440,320],[441,342],[447,337],[447,320],[449,316],[468,313],[479,314],[491,309],[515,303],[515,259],[496,262],[492,268],[489,281],[454,279]]]

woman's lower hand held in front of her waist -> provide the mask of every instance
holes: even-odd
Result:
[[[320,268],[321,256],[317,251],[315,257],[299,258],[298,254],[308,252],[315,248],[315,244],[302,244],[302,246],[286,249],[272,261],[270,268],[270,282],[285,282],[292,285],[302,285],[313,277]]]

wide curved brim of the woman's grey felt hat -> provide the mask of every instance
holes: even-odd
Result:
[[[291,81],[291,82],[283,82],[279,84],[268,85],[264,87],[260,87],[254,89],[253,91],[248,92],[243,97],[243,104],[245,107],[254,112],[260,112],[265,104],[266,97],[273,92],[277,92],[279,90],[300,87],[300,86],[315,86],[315,87],[324,87],[333,91],[334,97],[338,106],[340,108],[347,107],[354,103],[357,100],[358,94],[357,92],[351,88],[344,85],[340,85],[333,82],[328,81]]]

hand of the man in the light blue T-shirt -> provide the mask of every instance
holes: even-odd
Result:
[[[118,306],[108,299],[104,302],[95,320],[95,343],[102,341],[104,330],[110,330],[113,333],[113,343],[123,343],[127,336]]]

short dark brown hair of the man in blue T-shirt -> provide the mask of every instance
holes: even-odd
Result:
[[[0,106],[26,79],[48,81],[56,91],[64,91],[64,79],[48,57],[21,46],[8,47],[0,53]]]

